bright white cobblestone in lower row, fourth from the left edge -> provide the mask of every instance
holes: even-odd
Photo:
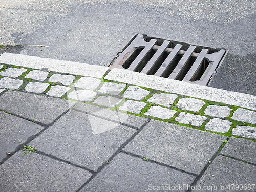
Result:
[[[96,92],[90,90],[74,90],[71,93],[69,93],[68,98],[78,101],[90,102],[96,97],[96,95]]]

